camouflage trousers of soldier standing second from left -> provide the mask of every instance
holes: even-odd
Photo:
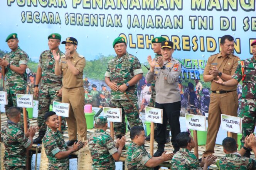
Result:
[[[59,90],[60,86],[51,87],[49,85],[42,85],[39,92],[39,102],[38,102],[38,117],[37,124],[39,127],[39,132],[46,132],[47,125],[45,124],[44,114],[49,112],[49,107],[52,105],[53,101],[61,102],[61,97],[58,97],[56,91]],[[66,120],[65,117],[61,117],[61,131],[66,130]]]

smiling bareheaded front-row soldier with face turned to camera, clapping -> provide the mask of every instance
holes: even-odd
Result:
[[[83,148],[87,142],[78,141],[73,147],[68,148],[59,130],[59,117],[55,112],[46,112],[44,115],[47,131],[43,144],[45,154],[49,160],[48,170],[69,170],[68,156]]]

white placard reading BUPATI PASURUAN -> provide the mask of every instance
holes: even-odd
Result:
[[[186,127],[192,130],[206,131],[206,117],[201,115],[185,114]]]

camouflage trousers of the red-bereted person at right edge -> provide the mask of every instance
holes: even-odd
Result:
[[[241,147],[244,146],[244,138],[254,132],[256,123],[256,112],[249,111],[249,106],[241,108],[239,117],[242,118],[242,138]]]

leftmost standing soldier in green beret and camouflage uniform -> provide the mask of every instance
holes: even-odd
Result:
[[[12,33],[8,35],[5,42],[12,50],[10,53],[7,53],[5,60],[0,58],[0,65],[3,68],[5,67],[5,90],[7,91],[8,105],[5,105],[5,110],[12,106],[17,106],[16,94],[25,94],[26,93],[26,84],[27,84],[27,74],[25,72],[27,68],[27,63],[29,56],[26,52],[20,49],[18,43],[17,33]],[[23,113],[21,112],[21,121],[18,123],[18,126],[24,130],[23,123]],[[27,124],[29,127],[29,117],[27,115]]]

